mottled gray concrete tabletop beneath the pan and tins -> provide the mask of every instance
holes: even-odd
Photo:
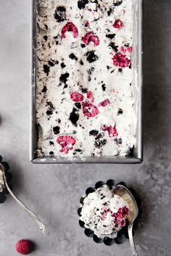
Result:
[[[18,239],[33,239],[33,256],[124,256],[128,242],[106,247],[78,226],[80,195],[115,178],[143,199],[135,235],[140,256],[170,256],[171,243],[171,1],[144,1],[144,161],[141,165],[33,165],[29,162],[30,1],[0,0],[0,154],[9,162],[13,190],[46,221],[41,236],[11,197],[0,205],[0,255],[14,256]]]

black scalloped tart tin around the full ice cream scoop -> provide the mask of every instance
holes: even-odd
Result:
[[[135,231],[139,228],[139,226],[141,226],[141,219],[142,219],[142,209],[141,209],[141,199],[139,197],[136,196],[135,190],[133,188],[130,188],[127,186],[127,184],[123,181],[121,181],[120,183],[116,183],[116,181],[114,180],[108,180],[106,183],[104,181],[98,181],[96,182],[95,186],[93,187],[89,187],[88,189],[86,189],[86,196],[85,197],[81,197],[80,198],[80,205],[83,206],[83,201],[84,199],[88,196],[88,194],[93,193],[93,191],[96,191],[96,189],[100,188],[101,186],[104,186],[105,184],[107,184],[107,186],[109,186],[109,189],[114,189],[115,186],[117,185],[123,185],[125,186],[127,189],[129,189],[129,191],[131,192],[131,194],[133,194],[133,197],[135,198],[135,201],[138,205],[138,216],[137,218],[135,218],[134,223],[133,223],[133,236],[135,235]],[[80,206],[78,208],[78,215],[81,216],[81,210],[82,210],[82,206]],[[117,237],[114,239],[110,239],[109,237],[104,237],[104,239],[100,239],[98,236],[96,236],[93,231],[89,228],[85,228],[85,223],[81,220],[79,220],[79,225],[81,228],[84,228],[84,233],[86,234],[86,236],[93,238],[93,241],[95,241],[97,244],[101,244],[104,243],[106,245],[112,245],[112,244],[122,244],[125,242],[126,239],[129,239],[128,236],[128,222],[126,222],[126,225],[124,227],[122,227],[120,229],[120,231],[117,232]]]

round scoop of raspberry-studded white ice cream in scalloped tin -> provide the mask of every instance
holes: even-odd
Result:
[[[125,226],[128,213],[127,202],[104,185],[85,197],[80,220],[85,223],[85,228],[90,228],[99,238],[106,236],[113,239]]]

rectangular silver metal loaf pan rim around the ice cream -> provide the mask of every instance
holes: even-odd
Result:
[[[38,0],[31,1],[31,92],[30,92],[30,162],[33,163],[141,163],[143,161],[143,129],[142,129],[142,14],[143,0],[134,0],[134,40],[133,40],[133,70],[135,111],[137,113],[136,144],[128,157],[88,157],[86,160],[74,160],[59,157],[37,157],[36,149],[38,131],[36,125],[36,31]]]

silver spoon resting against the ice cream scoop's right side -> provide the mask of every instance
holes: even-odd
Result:
[[[122,197],[128,203],[128,206],[129,206],[129,209],[130,209],[130,212],[127,216],[127,219],[128,219],[128,222],[129,222],[128,236],[129,236],[129,239],[130,239],[130,248],[131,248],[132,255],[133,256],[138,256],[138,252],[135,249],[135,244],[134,244],[134,241],[133,241],[133,221],[138,216],[137,203],[136,203],[135,198],[133,197],[133,195],[130,193],[130,191],[125,186],[117,185],[116,189],[115,189],[115,194]]]

